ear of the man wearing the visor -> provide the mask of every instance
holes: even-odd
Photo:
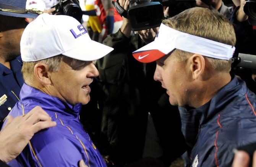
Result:
[[[202,79],[202,74],[205,69],[205,59],[204,56],[199,54],[194,54],[189,58],[190,72],[193,79]]]

